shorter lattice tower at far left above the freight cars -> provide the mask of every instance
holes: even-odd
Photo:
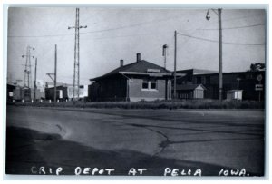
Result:
[[[31,50],[35,50],[34,47],[27,46],[26,54],[22,55],[22,58],[25,57],[24,64],[24,87],[31,88],[31,59],[34,59],[34,56],[31,55]]]

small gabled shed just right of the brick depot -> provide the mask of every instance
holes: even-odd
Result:
[[[206,88],[202,84],[177,85],[177,94],[180,99],[203,99]]]

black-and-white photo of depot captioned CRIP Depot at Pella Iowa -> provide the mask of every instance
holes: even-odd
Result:
[[[266,176],[266,6],[7,13],[6,175]]]

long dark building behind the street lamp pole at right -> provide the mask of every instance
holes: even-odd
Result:
[[[177,88],[185,84],[202,84],[205,87],[205,99],[219,99],[219,73],[206,70],[184,70],[178,73],[186,74],[177,80]],[[265,71],[247,71],[223,73],[223,99],[230,98],[230,94],[237,90],[242,100],[264,100]],[[242,91],[242,92],[240,92]],[[241,100],[241,99],[239,99]]]

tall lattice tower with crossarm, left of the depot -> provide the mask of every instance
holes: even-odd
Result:
[[[73,27],[68,27],[68,29],[75,29],[74,63],[73,63],[73,101],[75,101],[76,92],[77,92],[77,99],[79,99],[79,92],[80,92],[80,34],[79,34],[79,30],[82,28],[87,28],[87,25],[85,26],[79,25],[79,8],[76,8],[75,25]]]

